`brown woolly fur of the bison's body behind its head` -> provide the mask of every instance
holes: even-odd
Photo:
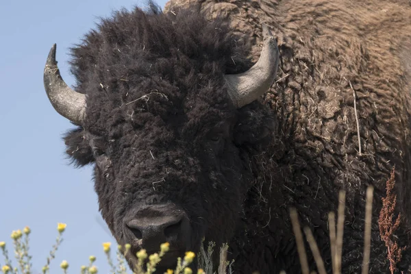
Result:
[[[173,0],[166,8],[173,10],[174,5],[186,3]],[[266,188],[279,177],[284,182],[274,185],[282,198],[277,207],[271,208],[271,222],[264,223],[266,217],[254,225],[273,227],[271,231],[282,234],[287,242],[290,236],[281,228],[286,208],[297,205],[302,221],[312,224],[323,245],[323,256],[327,256],[326,213],[336,209],[336,192],[344,188],[347,223],[343,271],[359,273],[364,192],[368,184],[373,184],[377,206],[373,210],[371,273],[387,273],[388,260],[378,236],[377,216],[393,166],[397,171],[399,211],[407,216],[403,223],[408,222],[408,227],[411,216],[410,1],[200,3],[204,10],[211,8],[210,17],[221,11],[229,14],[237,32],[255,39],[253,60],[260,51],[262,22],[271,25],[279,44],[281,69],[277,83],[264,99],[278,114],[282,138],[275,145],[282,153],[258,158],[262,163],[260,169],[270,173],[270,177],[256,181],[256,195],[261,195],[263,201],[256,212],[265,210],[268,216]],[[358,153],[350,82],[357,96],[362,155]],[[400,238],[399,242],[408,245],[406,235]],[[258,236],[254,240],[270,242],[271,238]],[[250,253],[255,254],[254,260],[264,256],[266,260],[271,256],[278,259],[277,252],[288,253],[285,243],[279,245],[277,241],[273,245],[278,245],[275,251],[262,249]]]

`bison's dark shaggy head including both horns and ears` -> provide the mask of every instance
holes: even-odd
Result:
[[[201,240],[229,241],[253,182],[250,158],[271,139],[273,116],[256,99],[269,90],[278,49],[263,25],[260,59],[223,19],[196,8],[121,11],[73,47],[75,90],[60,76],[55,45],[47,95],[77,125],[67,153],[95,164],[99,208],[119,244],[170,243],[162,267]],[[159,269],[161,271],[161,269]]]

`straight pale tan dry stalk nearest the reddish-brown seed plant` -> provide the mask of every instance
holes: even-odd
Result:
[[[373,191],[373,186],[366,188],[364,258],[362,258],[362,274],[367,274],[369,272],[371,250],[371,219],[373,216]]]

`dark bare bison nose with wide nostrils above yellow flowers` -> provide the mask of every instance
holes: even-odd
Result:
[[[134,218],[127,222],[132,237],[141,240],[142,248],[158,251],[163,242],[175,243],[183,234],[184,217],[152,216]]]

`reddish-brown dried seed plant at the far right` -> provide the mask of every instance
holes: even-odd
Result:
[[[378,219],[379,235],[384,240],[388,250],[391,273],[394,273],[397,269],[396,265],[401,261],[401,252],[406,249],[406,247],[399,247],[394,237],[394,233],[401,222],[401,214],[398,214],[397,219],[395,219],[397,195],[394,194],[394,186],[395,169],[391,171],[390,179],[386,182],[386,197],[382,198],[382,209],[379,212]]]

